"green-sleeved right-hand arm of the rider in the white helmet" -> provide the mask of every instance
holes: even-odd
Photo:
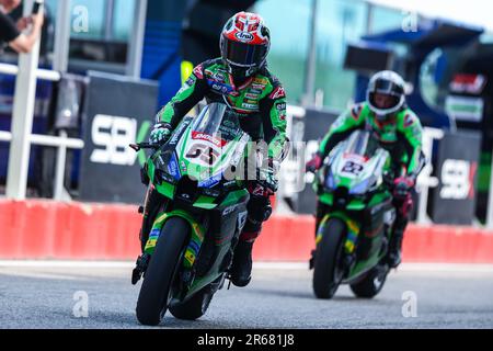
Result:
[[[415,180],[424,165],[422,151],[423,127],[420,118],[412,111],[409,111],[404,118],[399,121],[398,131],[403,136],[408,154],[405,176]]]

